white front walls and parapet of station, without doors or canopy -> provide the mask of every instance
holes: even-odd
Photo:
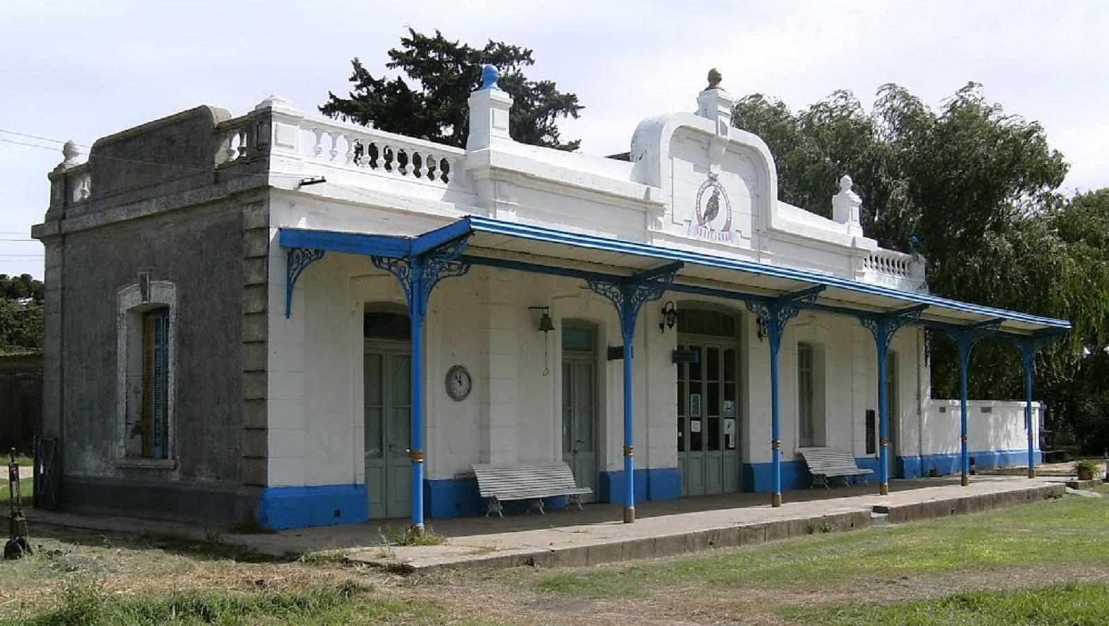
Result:
[[[923,259],[882,249],[865,237],[849,178],[834,198],[836,220],[780,202],[773,157],[759,137],[730,126],[731,101],[722,90],[702,92],[698,114],[663,115],[640,124],[631,140],[630,161],[517,144],[508,138],[507,126],[497,126],[507,121],[509,104],[503,92],[476,92],[470,100],[469,145],[460,151],[334,121],[309,121],[279,100],[263,103],[274,114],[274,136],[285,138],[288,152],[288,158],[277,161],[271,172],[272,488],[366,484],[363,314],[367,307],[406,304],[399,283],[366,256],[329,253],[296,281],[286,318],[282,228],[417,236],[466,215],[485,215],[815,270],[906,291],[925,289]],[[491,121],[482,126],[485,117]],[[417,177],[403,166],[375,166],[368,158],[359,163],[356,151],[363,148],[355,146],[369,144],[430,153],[433,160],[447,155],[449,182]],[[295,185],[309,176],[323,176],[326,183]],[[710,216],[706,201],[714,192],[719,192],[716,215]],[[576,261],[588,266],[588,250]],[[737,320],[735,418],[743,474],[739,485],[766,491],[770,347],[755,316],[735,300],[665,294],[643,307],[634,340],[633,445],[637,471],[644,471],[642,481],[637,474],[637,491],[643,483],[640,497],[682,494],[681,478],[674,475],[679,408],[676,367],[671,360],[682,338],[675,329],[659,330],[665,301],[675,302],[679,311],[721,310]],[[539,332],[539,314],[529,307],[549,307],[556,331]],[[568,321],[596,328],[597,484],[602,500],[618,499],[620,486],[611,476],[622,473],[623,463],[622,366],[604,352],[606,347],[622,343],[612,305],[572,278],[474,267],[437,286],[428,308],[424,449],[431,516],[476,511],[479,502],[469,486],[474,463],[562,459],[564,381],[558,329]],[[876,468],[874,338],[854,317],[806,310],[786,327],[780,353],[785,486],[807,485],[807,473],[796,456],[798,342],[813,346],[816,356],[816,444],[851,451],[861,465]],[[946,401],[929,400],[923,330],[905,327],[891,349],[896,360],[892,382],[896,406],[891,415],[897,420],[891,470],[903,476],[922,475],[932,468],[956,471],[958,423],[949,419],[952,409],[946,415],[939,412]],[[472,376],[472,392],[461,401],[448,397],[444,384],[445,372],[454,366]],[[975,414],[971,450],[988,452],[979,456],[988,456],[993,464],[1013,462],[1027,443],[1022,411],[1022,403],[994,403],[989,419]],[[655,481],[654,471],[669,475]],[[446,485],[445,491],[436,485]]]

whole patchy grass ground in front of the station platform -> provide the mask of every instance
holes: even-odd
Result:
[[[215,535],[32,533],[33,557],[0,562],[0,625],[1109,624],[1109,497],[630,564],[408,577]]]

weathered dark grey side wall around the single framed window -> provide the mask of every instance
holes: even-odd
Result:
[[[140,496],[129,490],[149,496],[173,485],[203,485],[220,507],[233,497],[243,427],[242,242],[243,206],[235,201],[65,235],[64,506],[114,507]],[[115,459],[116,294],[140,271],[176,287],[174,469],[120,466]],[[113,485],[120,493],[105,492]],[[171,514],[197,505],[179,496],[149,504]]]

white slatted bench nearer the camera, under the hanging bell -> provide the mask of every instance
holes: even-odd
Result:
[[[569,497],[569,504],[577,504],[581,510],[581,496],[593,492],[589,488],[578,486],[573,482],[570,466],[561,461],[471,466],[478,479],[478,493],[481,497],[489,499],[486,517],[490,513],[503,517],[501,502],[509,500],[530,500],[546,515],[543,499],[560,495]]]

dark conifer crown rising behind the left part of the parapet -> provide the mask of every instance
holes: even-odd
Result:
[[[467,99],[481,85],[482,64],[491,63],[500,70],[498,85],[513,100],[513,140],[559,150],[577,150],[580,144],[579,140],[563,142],[558,129],[560,119],[578,117],[582,109],[578,96],[560,92],[553,81],[529,80],[523,70],[535,64],[530,49],[492,40],[471,48],[446,39],[438,30],[428,37],[409,28],[400,48],[390,49],[388,55],[385,66],[399,70],[403,76],[374,76],[355,58],[347,98],[328,92],[319,111],[461,147],[469,132]]]

